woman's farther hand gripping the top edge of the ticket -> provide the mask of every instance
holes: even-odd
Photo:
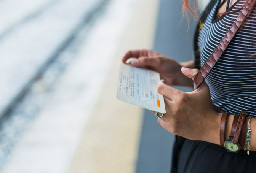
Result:
[[[181,73],[181,65],[175,60],[151,50],[133,50],[126,52],[122,59],[125,63],[129,58],[136,58],[131,65],[146,68],[160,73],[167,85],[193,87],[192,80]]]

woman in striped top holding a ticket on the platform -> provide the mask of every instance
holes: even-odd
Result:
[[[201,64],[205,63],[220,43],[246,3],[247,0],[211,0],[208,5],[209,13],[203,13],[203,23],[195,33],[194,46],[195,50],[197,45],[199,47]],[[185,10],[188,8],[187,4],[188,0],[184,0]],[[211,73],[193,92],[182,92],[171,86],[193,88],[192,79],[198,72],[197,59],[178,63],[150,50],[128,51],[123,57],[123,63],[130,57],[136,57],[131,65],[160,73],[162,80],[157,90],[164,95],[166,114],[158,118],[157,122],[176,135],[171,173],[256,172],[255,15],[254,6],[242,29],[230,42]],[[227,152],[227,149],[220,146],[223,111],[230,113],[225,126],[227,140],[234,117],[242,110],[250,116],[249,155],[244,150]],[[153,113],[155,114],[154,111]],[[246,125],[248,127],[248,119]]]

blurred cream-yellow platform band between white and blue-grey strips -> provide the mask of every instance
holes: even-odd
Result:
[[[134,173],[142,108],[116,99],[120,60],[129,49],[151,48],[158,0],[137,0],[97,105],[86,124],[69,173]],[[153,115],[152,115],[153,116]]]

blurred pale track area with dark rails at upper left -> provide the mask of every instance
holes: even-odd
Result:
[[[1,1],[0,116],[63,50],[103,0]],[[10,10],[13,11],[10,15]]]

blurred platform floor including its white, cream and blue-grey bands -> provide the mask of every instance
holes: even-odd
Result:
[[[52,89],[46,87],[45,90],[52,92],[51,97],[39,116],[24,127],[24,135],[2,172],[167,173],[170,170],[173,135],[157,124],[150,111],[143,115],[142,108],[117,100],[115,93],[120,59],[129,49],[153,47],[178,61],[192,58],[191,40],[184,34],[186,20],[180,22],[181,2],[110,2],[105,17],[95,24],[98,27],[90,30],[90,37],[80,43],[82,49],[77,59]],[[190,23],[190,36],[193,30]],[[45,81],[40,81],[42,86]]]

